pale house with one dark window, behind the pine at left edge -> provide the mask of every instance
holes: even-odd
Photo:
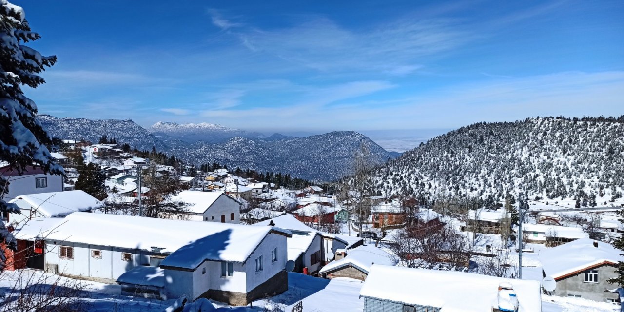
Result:
[[[61,175],[46,174],[41,168],[29,167],[20,175],[6,162],[0,162],[0,174],[10,183],[9,192],[4,194],[6,200],[24,194],[61,192],[64,187]]]

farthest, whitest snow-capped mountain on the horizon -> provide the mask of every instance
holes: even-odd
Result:
[[[225,127],[217,124],[177,124],[175,122],[157,122],[147,130],[162,140],[182,140],[187,143],[203,141],[208,143],[225,142],[233,137],[261,139],[264,136],[258,132]]]

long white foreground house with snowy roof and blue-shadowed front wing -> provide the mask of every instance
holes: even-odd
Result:
[[[229,305],[246,305],[288,289],[284,269],[291,234],[280,228],[84,212],[71,213],[62,222],[55,219],[16,230],[18,246],[36,256],[27,263],[9,255],[12,268],[29,264],[104,283],[127,273],[122,278],[126,289],[133,280],[156,278],[158,285],[149,291],[161,298],[208,298]],[[154,272],[160,276],[145,275]],[[134,289],[141,291],[140,283]]]

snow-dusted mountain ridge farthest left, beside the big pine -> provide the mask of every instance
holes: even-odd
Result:
[[[90,140],[97,143],[102,135],[115,138],[120,143],[130,144],[141,150],[167,150],[168,146],[149,131],[131,119],[92,120],[86,118],[57,118],[51,115],[37,115],[44,128],[53,137],[66,140]]]

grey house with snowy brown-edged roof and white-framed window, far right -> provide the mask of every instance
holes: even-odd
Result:
[[[608,243],[581,238],[542,250],[542,273],[557,282],[552,295],[615,303],[618,295],[605,290],[618,287],[607,280],[618,276],[616,266],[624,261],[620,253]]]

